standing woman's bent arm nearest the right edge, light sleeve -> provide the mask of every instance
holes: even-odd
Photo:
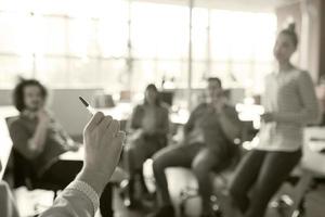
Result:
[[[306,72],[302,72],[299,75],[298,91],[302,102],[301,111],[297,113],[275,113],[275,122],[306,125],[313,123],[318,118],[320,107],[315,95],[315,89],[310,75]]]

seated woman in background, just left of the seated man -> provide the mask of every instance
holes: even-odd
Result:
[[[142,164],[167,144],[168,116],[168,108],[161,103],[156,86],[148,85],[144,103],[134,108],[130,119],[131,137],[125,150],[131,203],[134,202],[134,177],[142,171]]]

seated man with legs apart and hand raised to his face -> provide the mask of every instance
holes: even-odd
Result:
[[[239,137],[242,124],[235,108],[225,103],[219,78],[209,78],[207,90],[210,100],[192,112],[184,126],[182,143],[162,149],[153,157],[154,176],[162,206],[152,216],[174,216],[165,169],[178,166],[193,169],[203,197],[203,216],[213,216],[209,174],[226,168],[238,153],[238,146],[233,141]]]

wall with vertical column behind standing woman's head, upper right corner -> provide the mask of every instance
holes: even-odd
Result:
[[[291,18],[297,24],[300,46],[295,63],[308,69],[314,80],[325,75],[325,2],[301,0],[276,9],[278,30]]]

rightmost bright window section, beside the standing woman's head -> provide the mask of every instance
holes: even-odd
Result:
[[[262,78],[272,71],[275,16],[212,10],[210,28],[211,72],[227,86],[260,91]]]

